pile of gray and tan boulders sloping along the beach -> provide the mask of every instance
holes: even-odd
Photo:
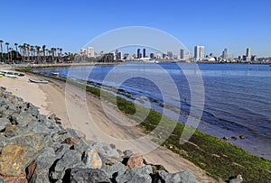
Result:
[[[0,175],[24,175],[28,182],[197,182],[192,173],[168,173],[133,151],[114,144],[89,145],[61,119],[40,114],[0,88]],[[0,178],[0,181],[1,178]]]

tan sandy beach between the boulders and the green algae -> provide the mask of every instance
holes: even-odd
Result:
[[[164,147],[157,147],[141,129],[133,125],[135,122],[111,105],[101,104],[97,97],[55,79],[46,78],[49,84],[36,84],[28,78],[39,77],[29,74],[23,78],[3,77],[0,78],[0,87],[6,87],[15,96],[38,106],[42,114],[56,114],[65,127],[84,133],[89,142],[114,143],[121,151],[130,149],[143,153],[147,162],[162,164],[170,172],[189,170],[199,182],[216,182],[192,162]]]

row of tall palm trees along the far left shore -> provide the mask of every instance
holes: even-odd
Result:
[[[62,54],[61,48],[51,48],[47,49],[46,45],[41,46],[33,46],[27,43],[23,43],[23,45],[19,45],[18,43],[14,43],[15,50],[10,48],[10,43],[5,42],[6,53],[3,52],[3,43],[4,41],[0,40],[0,50],[1,50],[1,62],[5,63],[16,63],[21,62],[32,62],[32,63],[57,63],[61,62],[63,59],[72,60],[74,58],[74,54],[70,52],[65,52]],[[18,51],[19,49],[19,51]],[[5,57],[4,57],[5,56]]]

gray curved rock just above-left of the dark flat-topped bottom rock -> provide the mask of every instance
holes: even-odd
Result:
[[[85,164],[81,161],[79,151],[66,151],[61,160],[56,162],[50,177],[55,180],[62,179],[65,175],[65,170],[69,168],[85,168]]]

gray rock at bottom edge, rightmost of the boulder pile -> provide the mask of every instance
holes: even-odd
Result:
[[[179,173],[167,173],[164,171],[157,171],[159,178],[162,182],[168,183],[197,183],[197,179],[189,171],[182,171]]]

